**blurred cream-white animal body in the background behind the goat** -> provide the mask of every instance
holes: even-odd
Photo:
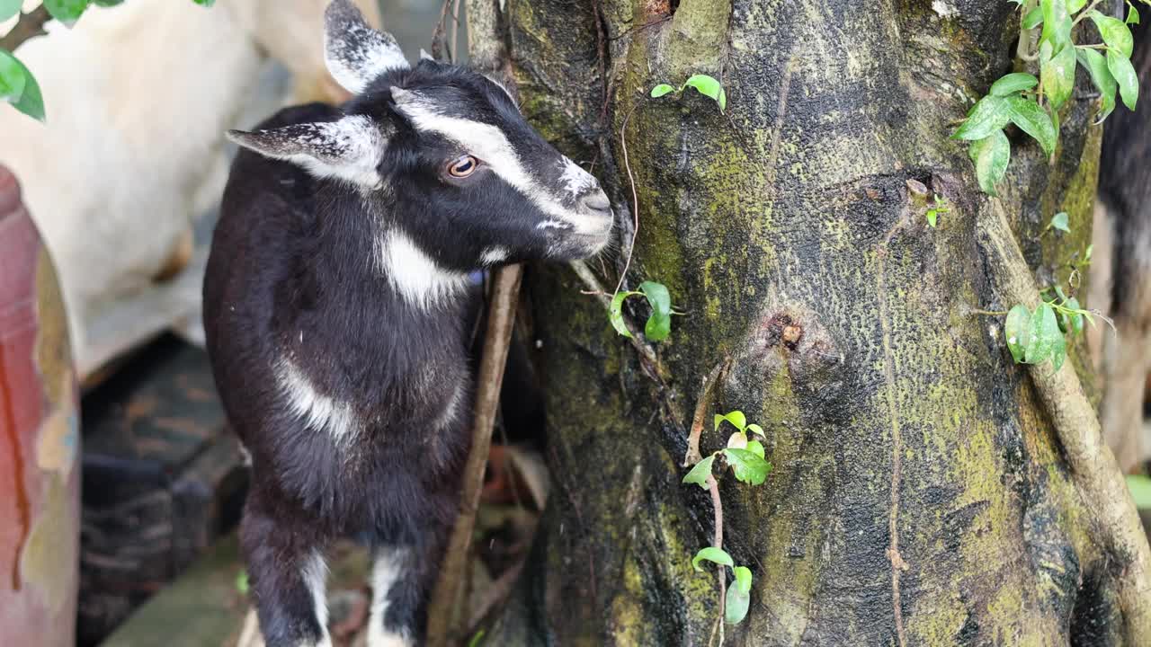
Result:
[[[374,0],[357,3],[378,21]],[[82,366],[100,352],[85,335],[97,315],[150,290],[193,218],[219,200],[223,131],[249,125],[235,120],[261,50],[292,70],[297,99],[346,96],[323,63],[326,6],[131,0],[92,6],[71,30],[49,23],[17,50],[47,124],[0,106],[0,163],[20,178],[56,264]]]

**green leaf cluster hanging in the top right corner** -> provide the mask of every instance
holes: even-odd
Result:
[[[1042,26],[1038,51],[1039,78],[1027,73],[1012,73],[991,84],[988,96],[980,99],[967,119],[952,135],[970,142],[968,154],[975,165],[980,189],[996,195],[996,183],[1003,180],[1011,163],[1011,142],[1003,129],[1013,123],[1031,136],[1043,152],[1051,155],[1059,139],[1059,108],[1075,86],[1075,69],[1083,67],[1099,91],[1102,122],[1115,109],[1115,92],[1129,109],[1138,99],[1138,78],[1131,67],[1131,31],[1128,24],[1139,21],[1133,0],[1128,0],[1126,21],[1095,9],[1097,1],[1087,0],[1015,0],[1026,14],[1020,20],[1022,43],[1030,43],[1030,32]],[[1151,5],[1151,0],[1138,0]],[[1103,43],[1077,44],[1072,28],[1090,18]]]

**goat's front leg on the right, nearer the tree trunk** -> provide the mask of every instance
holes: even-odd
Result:
[[[414,546],[378,546],[372,551],[372,614],[368,647],[424,644],[427,604],[440,573],[450,525],[428,525]]]

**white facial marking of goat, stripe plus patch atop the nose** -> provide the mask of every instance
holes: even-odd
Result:
[[[416,130],[432,132],[456,143],[467,154],[488,165],[536,208],[570,226],[576,234],[594,236],[610,230],[610,216],[592,215],[579,208],[579,198],[595,188],[596,182],[589,173],[566,157],[555,153],[558,157],[557,183],[566,190],[550,190],[527,170],[525,163],[536,160],[524,160],[500,127],[448,114],[416,91],[392,86],[391,97],[396,101],[396,108]],[[584,193],[577,190],[582,190]]]

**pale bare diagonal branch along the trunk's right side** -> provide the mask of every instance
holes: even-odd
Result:
[[[1004,303],[1034,310],[1039,304],[1039,290],[1003,203],[992,198],[990,207],[980,211],[977,231],[992,283]],[[1151,547],[1119,464],[1103,442],[1095,408],[1070,363],[1059,371],[1047,364],[1028,365],[1028,371],[1051,416],[1072,478],[1087,509],[1093,512],[1093,534],[1112,562],[1127,644],[1151,645]]]

